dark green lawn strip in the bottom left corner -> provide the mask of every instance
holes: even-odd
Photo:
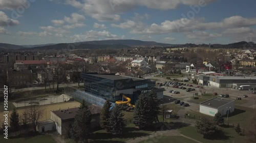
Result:
[[[5,143],[56,143],[56,141],[50,135],[37,135],[32,137],[20,137],[15,139],[5,139],[4,136],[1,135],[0,142]]]

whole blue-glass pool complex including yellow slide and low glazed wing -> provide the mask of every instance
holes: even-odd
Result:
[[[81,73],[84,80],[84,90],[65,90],[77,100],[86,100],[90,104],[103,107],[109,99],[115,104],[127,104],[134,107],[136,100],[143,91],[153,90],[158,99],[163,99],[164,89],[156,88],[156,81],[115,74]]]

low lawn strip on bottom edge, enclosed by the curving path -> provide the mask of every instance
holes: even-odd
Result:
[[[172,140],[172,141],[170,141]],[[193,140],[190,140],[188,138],[185,138],[183,136],[158,136],[155,138],[150,138],[150,139],[146,139],[143,141],[140,141],[139,143],[144,143],[144,142],[172,142],[172,143],[196,143]]]

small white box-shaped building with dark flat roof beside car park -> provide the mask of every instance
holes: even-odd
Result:
[[[200,103],[200,113],[205,115],[215,116],[217,112],[227,115],[228,110],[229,113],[234,111],[234,100],[215,97]]]

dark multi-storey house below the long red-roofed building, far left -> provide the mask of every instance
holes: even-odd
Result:
[[[33,83],[33,73],[31,70],[16,71],[8,70],[7,78],[11,87],[26,87],[27,84]]]

